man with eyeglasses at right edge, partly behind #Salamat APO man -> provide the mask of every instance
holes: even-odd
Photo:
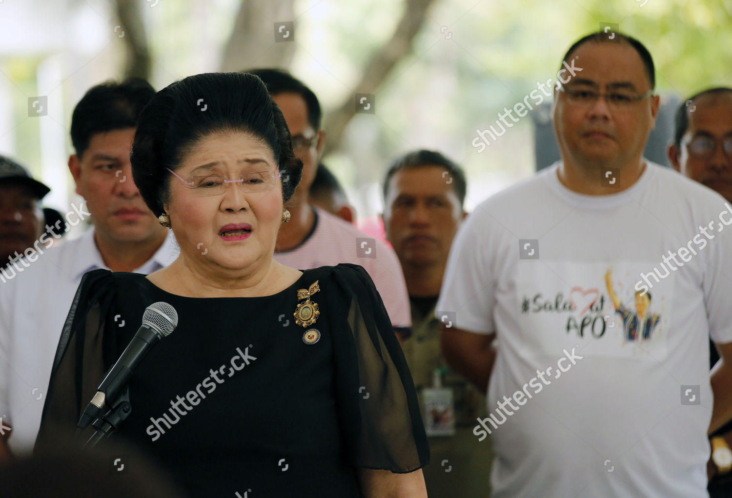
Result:
[[[668,145],[673,169],[708,186],[732,203],[732,88],[709,88],[686,99],[676,111],[673,142]],[[709,344],[710,366],[720,356]],[[712,498],[732,496],[732,426],[712,438],[709,483]]]

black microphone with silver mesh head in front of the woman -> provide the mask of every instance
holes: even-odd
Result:
[[[157,344],[160,339],[168,336],[178,326],[178,312],[168,303],[159,301],[152,303],[145,309],[142,316],[142,325],[130,344],[124,348],[114,366],[107,372],[97,393],[84,410],[77,426],[77,434],[86,429],[92,420],[96,419],[108,404],[113,404],[117,393],[130,380],[132,370],[138,366],[145,355]]]

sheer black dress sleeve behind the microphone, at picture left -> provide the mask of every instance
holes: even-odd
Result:
[[[113,334],[105,333],[115,295],[111,271],[82,277],[56,348],[34,452],[72,444],[81,412],[116,358]]]

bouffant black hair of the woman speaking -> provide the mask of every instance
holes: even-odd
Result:
[[[168,203],[171,174],[198,140],[216,132],[239,131],[272,149],[287,202],[302,177],[285,118],[255,75],[209,72],[171,83],[143,109],[132,142],[132,176],[155,214]]]

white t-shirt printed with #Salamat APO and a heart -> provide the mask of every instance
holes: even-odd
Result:
[[[455,239],[436,309],[496,332],[494,418],[474,429],[493,438],[494,498],[708,496],[708,337],[732,342],[732,206],[646,163],[603,196],[564,187],[557,163],[479,205]],[[667,252],[681,247],[683,266]]]

